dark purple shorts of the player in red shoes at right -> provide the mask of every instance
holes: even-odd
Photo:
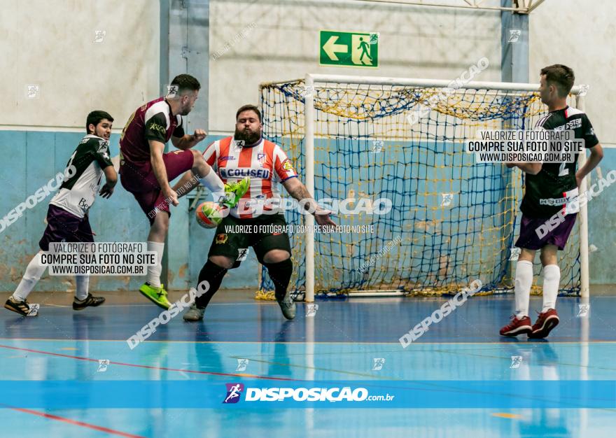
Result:
[[[550,230],[549,218],[528,218],[523,214],[520,222],[520,234],[515,246],[538,250],[546,245],[556,245],[559,250],[563,250],[573,225],[575,225],[575,218],[577,218],[577,213],[568,214],[563,217],[563,222]]]

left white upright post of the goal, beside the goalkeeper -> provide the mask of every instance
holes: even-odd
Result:
[[[304,121],[306,124],[306,136],[304,146],[306,153],[306,166],[304,168],[305,183],[308,192],[314,196],[314,78],[306,75],[304,83]],[[305,216],[306,229],[306,294],[305,302],[314,302],[314,216]]]

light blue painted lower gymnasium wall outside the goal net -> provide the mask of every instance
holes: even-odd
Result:
[[[62,171],[83,134],[73,132],[0,131],[0,216],[3,217],[29,195]],[[209,136],[202,148],[221,136]],[[118,154],[118,134],[111,137],[111,155]],[[600,164],[605,176],[616,169],[616,150],[605,149]],[[17,176],[17,177],[15,177]],[[596,178],[596,174],[593,175]],[[596,181],[596,179],[594,180]],[[51,195],[50,195],[51,197]],[[25,266],[38,250],[45,224],[48,197],[0,233],[0,290],[12,291]],[[197,225],[193,212],[188,212],[188,199],[172,210],[169,232],[169,287],[183,290],[193,284],[204,264],[214,230]],[[111,199],[97,199],[90,212],[97,241],[145,241],[148,221],[132,195],[118,185]],[[616,187],[606,189],[589,204],[589,243],[598,250],[590,254],[592,284],[616,283],[613,260],[616,256]],[[137,290],[143,277],[92,277],[92,290]],[[258,263],[253,253],[239,269],[225,277],[223,288],[256,288]],[[71,277],[45,274],[36,290],[73,290]]]

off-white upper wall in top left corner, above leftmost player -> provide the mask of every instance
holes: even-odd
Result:
[[[159,94],[153,0],[0,0],[0,125],[83,127],[94,109],[121,128]],[[96,43],[95,31],[105,31]],[[28,99],[27,85],[38,85]]]

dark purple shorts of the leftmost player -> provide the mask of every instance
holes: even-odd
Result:
[[[82,218],[69,213],[58,206],[49,205],[47,210],[47,228],[38,246],[43,251],[49,250],[49,244],[54,242],[93,242],[94,234],[90,228],[87,215]]]

